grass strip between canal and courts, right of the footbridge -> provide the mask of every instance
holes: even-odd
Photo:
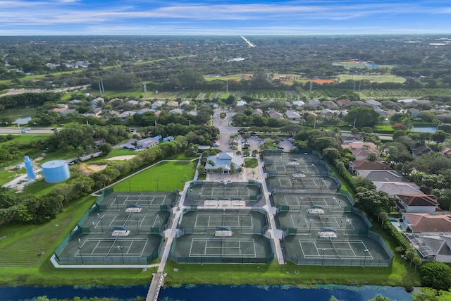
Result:
[[[408,266],[407,266],[408,267]],[[178,269],[174,273],[173,269]],[[296,274],[295,271],[299,271]],[[280,265],[276,260],[269,264],[166,264],[166,285],[212,284],[212,285],[419,285],[419,273],[397,260],[386,268],[362,266],[297,266],[291,262]]]

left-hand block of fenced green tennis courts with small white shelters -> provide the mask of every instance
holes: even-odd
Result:
[[[61,264],[148,264],[158,257],[160,231],[170,218],[171,192],[113,192],[79,221],[66,245],[56,251]]]

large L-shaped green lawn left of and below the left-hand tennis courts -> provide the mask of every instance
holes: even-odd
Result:
[[[1,285],[137,285],[147,284],[152,269],[56,269],[49,259],[56,246],[75,227],[95,198],[69,204],[44,225],[2,226],[0,237]],[[44,251],[43,256],[38,256]]]

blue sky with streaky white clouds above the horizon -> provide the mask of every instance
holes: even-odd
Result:
[[[451,33],[451,1],[0,0],[0,35]]]

